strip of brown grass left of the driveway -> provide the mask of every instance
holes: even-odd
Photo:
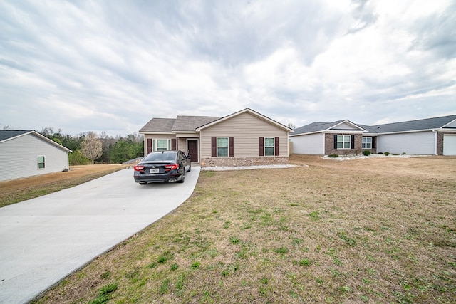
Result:
[[[76,186],[125,168],[121,164],[71,166],[68,172],[54,172],[0,182],[0,207]]]

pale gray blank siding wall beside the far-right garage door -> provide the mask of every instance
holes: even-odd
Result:
[[[378,135],[377,151],[401,154],[435,154],[435,132],[410,132],[400,134]]]

